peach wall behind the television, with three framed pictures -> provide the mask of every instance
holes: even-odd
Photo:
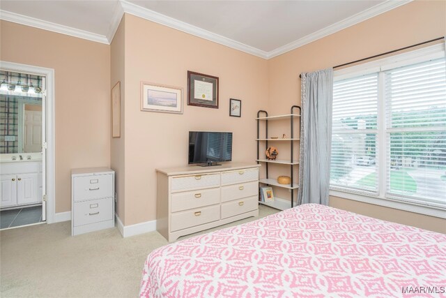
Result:
[[[254,163],[257,110],[266,108],[267,61],[125,15],[125,225],[155,220],[157,167],[187,165],[189,131],[233,132],[233,161]],[[220,78],[220,107],[187,105],[187,70]],[[141,112],[140,82],[182,87],[184,114]],[[242,117],[229,117],[229,98]]]

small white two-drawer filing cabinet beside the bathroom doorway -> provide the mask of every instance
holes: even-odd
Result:
[[[114,227],[114,171],[107,167],[71,170],[71,234]]]

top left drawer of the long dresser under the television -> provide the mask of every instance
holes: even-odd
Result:
[[[198,188],[211,188],[220,186],[219,174],[202,174],[193,176],[172,177],[171,192],[192,191]]]

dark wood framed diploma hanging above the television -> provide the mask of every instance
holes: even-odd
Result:
[[[187,71],[187,105],[218,109],[218,77]]]

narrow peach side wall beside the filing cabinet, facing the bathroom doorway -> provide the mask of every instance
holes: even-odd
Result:
[[[124,190],[125,190],[125,110],[124,110],[124,94],[125,94],[125,16],[122,18],[118,29],[110,45],[110,86],[114,86],[116,82],[121,82],[121,137],[113,137],[110,144],[110,164],[115,170],[115,188],[117,194],[116,214],[121,221],[125,220],[124,216]],[[110,111],[111,113],[112,111]],[[110,119],[110,126],[112,125]],[[110,137],[112,137],[110,135]]]

